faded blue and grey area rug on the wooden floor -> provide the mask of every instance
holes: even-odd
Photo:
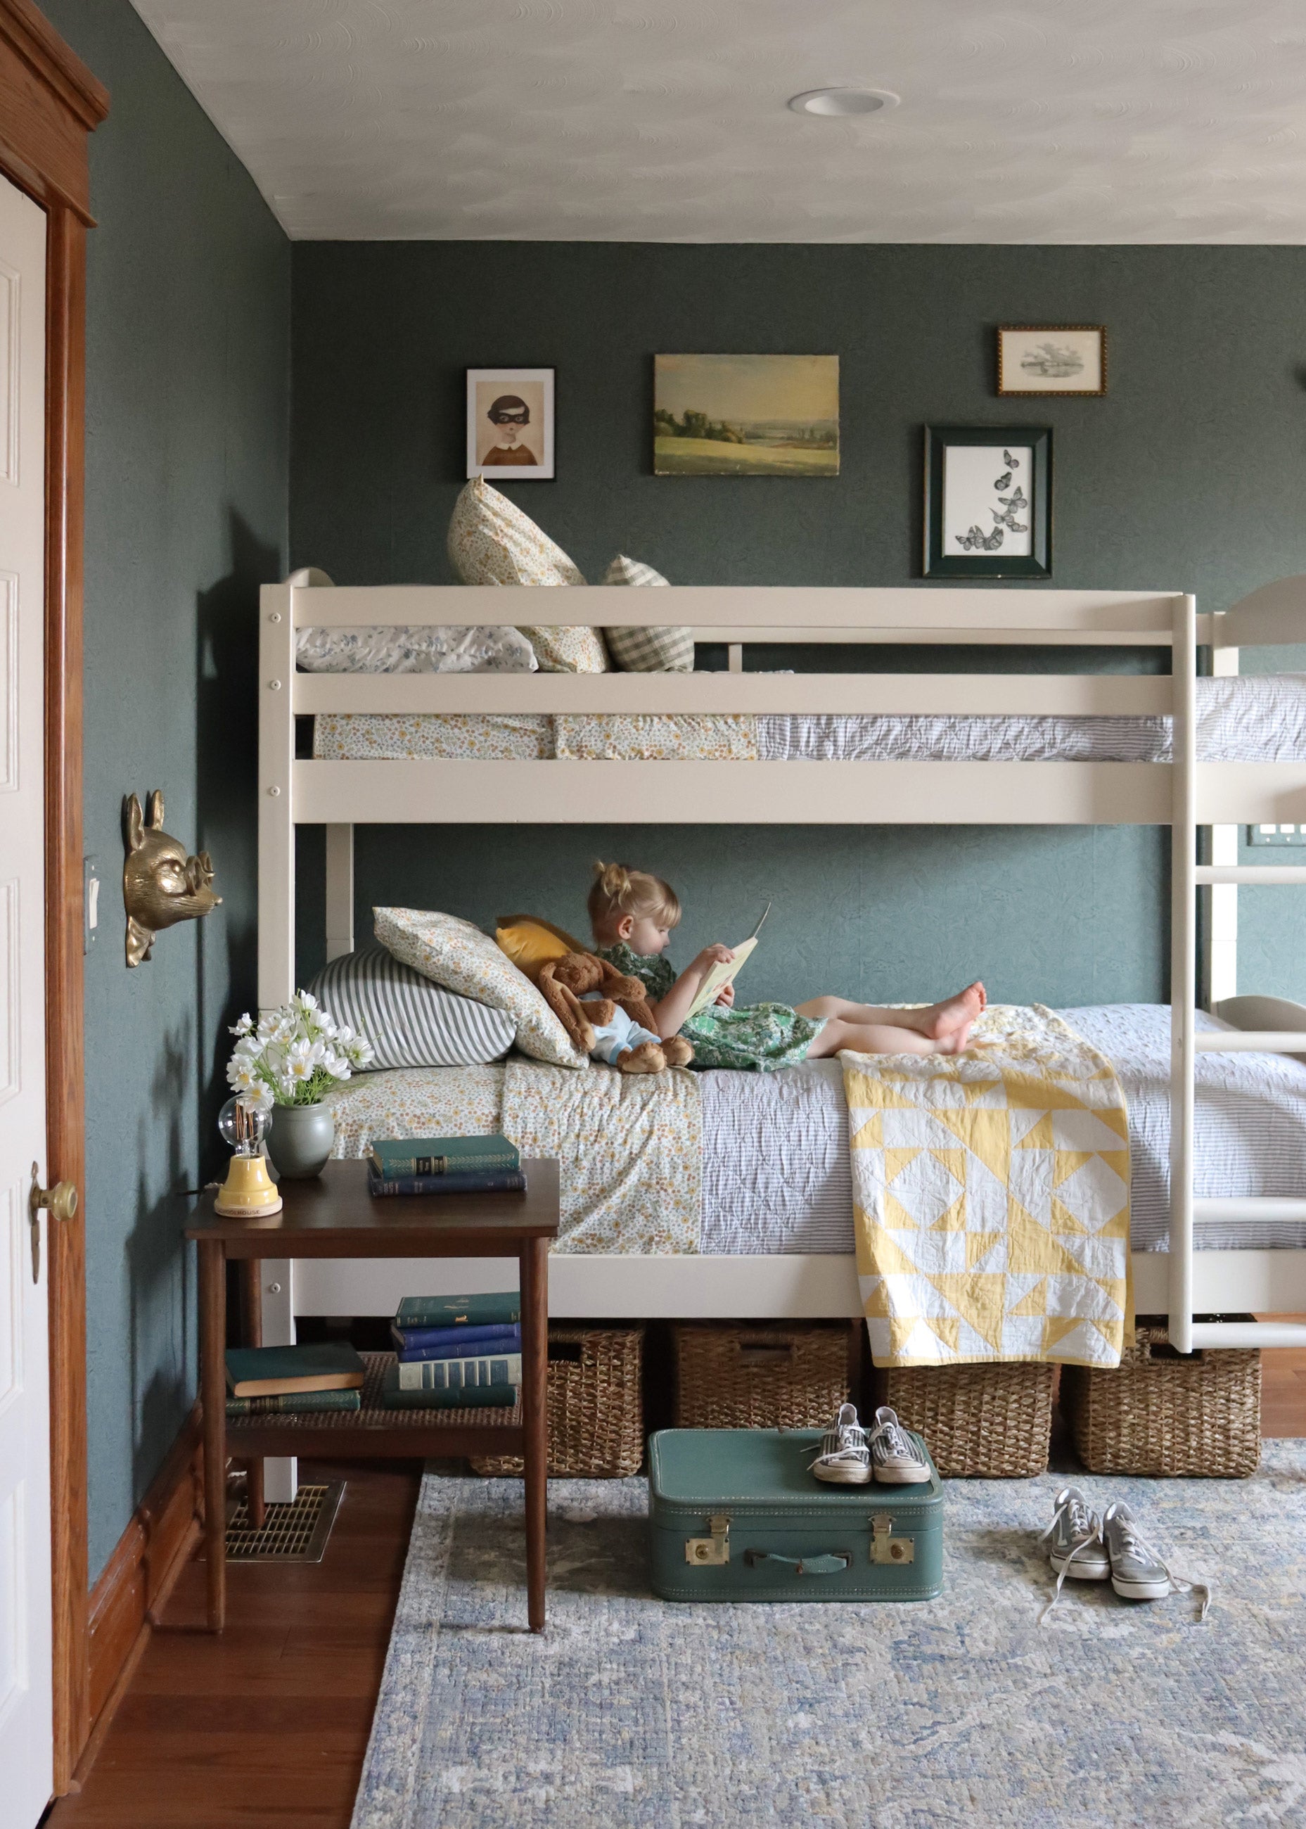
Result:
[[[1063,1476],[955,1480],[916,1606],[688,1606],[648,1588],[642,1480],[549,1487],[525,1630],[516,1480],[428,1469],[353,1829],[1306,1824],[1306,1441],[1253,1480],[1097,1480],[1193,1595],[1052,1584]]]

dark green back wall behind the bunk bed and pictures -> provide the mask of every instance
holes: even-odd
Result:
[[[1054,583],[1222,607],[1306,569],[1302,282],[1290,247],[296,243],[293,562],[338,583],[450,582],[463,371],[538,364],[558,371],[558,479],[505,492],[589,578],[626,551],[675,583],[909,583],[920,428],[1046,422]],[[993,327],[1041,320],[1108,326],[1105,399],[995,397]],[[840,477],[655,477],[653,355],[688,349],[838,353]],[[686,947],[776,898],[759,995],[933,997],[975,973],[1002,999],[1167,995],[1154,829],[375,827],[359,933],[391,900],[574,924],[605,850],[671,876]],[[322,957],[320,856],[302,834],[302,975]]]

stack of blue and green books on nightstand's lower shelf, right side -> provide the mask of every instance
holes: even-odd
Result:
[[[516,1403],[521,1392],[521,1297],[406,1295],[391,1322],[391,1410],[455,1410]]]

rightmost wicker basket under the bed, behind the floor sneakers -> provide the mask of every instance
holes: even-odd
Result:
[[[1065,1366],[1061,1410],[1088,1472],[1242,1480],[1260,1465],[1260,1353],[1180,1359],[1143,1317],[1119,1366]]]

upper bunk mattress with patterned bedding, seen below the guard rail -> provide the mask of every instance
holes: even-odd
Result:
[[[1306,675],[1200,679],[1198,757],[1306,761]],[[1169,717],[318,711],[318,761],[1165,763]]]

